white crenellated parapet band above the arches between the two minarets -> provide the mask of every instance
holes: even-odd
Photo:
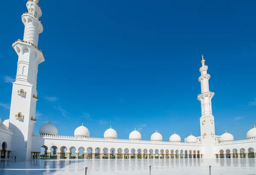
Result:
[[[94,137],[87,137],[87,138],[78,138],[76,136],[63,136],[63,135],[36,135],[33,134],[33,137],[41,137],[41,138],[57,138],[57,139],[67,139],[67,140],[96,140],[96,141],[125,141],[125,142],[136,142],[136,143],[154,143],[154,144],[171,144],[171,145],[201,145],[198,143],[184,143],[184,142],[169,142],[169,141],[162,141],[162,142],[154,142],[154,141],[146,141],[146,140],[140,140],[140,141],[132,141],[129,139],[105,139],[105,138],[94,138]]]

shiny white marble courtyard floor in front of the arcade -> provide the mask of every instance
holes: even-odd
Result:
[[[0,161],[0,175],[256,175],[256,159]]]

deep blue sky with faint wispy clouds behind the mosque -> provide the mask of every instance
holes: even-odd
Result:
[[[240,1],[241,2],[241,1]],[[49,119],[60,135],[84,123],[92,137],[110,125],[119,138],[140,130],[149,140],[200,135],[199,67],[204,54],[216,135],[246,138],[256,124],[256,2],[238,1],[47,1],[38,47],[35,133]],[[10,13],[10,9],[12,9]],[[20,17],[26,0],[3,1],[0,28],[1,119],[9,118]]]

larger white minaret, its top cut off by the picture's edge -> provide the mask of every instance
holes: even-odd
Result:
[[[12,47],[18,55],[17,75],[12,86],[9,127],[14,130],[12,155],[18,159],[31,158],[32,134],[35,125],[35,108],[38,100],[36,82],[38,65],[44,62],[44,54],[38,48],[38,35],[43,32],[39,18],[42,16],[39,0],[28,0],[28,12],[21,16],[25,25],[23,40]],[[35,150],[34,150],[35,151]]]

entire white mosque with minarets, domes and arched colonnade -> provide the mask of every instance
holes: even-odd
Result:
[[[9,119],[0,124],[1,159],[11,158],[12,155],[16,155],[17,159],[40,158],[41,148],[45,149],[47,158],[57,159],[70,159],[72,150],[75,150],[76,159],[256,158],[255,126],[247,132],[246,140],[235,141],[233,135],[227,132],[215,135],[211,102],[214,92],[209,91],[211,76],[207,73],[204,56],[198,78],[201,83],[201,93],[197,96],[201,102],[201,133],[198,137],[190,134],[185,142],[181,142],[180,136],[174,133],[169,141],[163,141],[162,135],[156,131],[150,141],[146,141],[135,129],[129,139],[120,139],[116,130],[110,127],[103,138],[92,138],[83,125],[76,128],[73,136],[62,136],[50,121],[40,127],[39,134],[35,134],[38,65],[44,62],[44,53],[38,48],[38,37],[43,32],[39,20],[42,11],[38,2],[27,1],[28,12],[21,16],[25,25],[23,40],[12,44],[18,55],[17,75],[12,87]],[[79,153],[81,149],[84,150],[82,155]]]

